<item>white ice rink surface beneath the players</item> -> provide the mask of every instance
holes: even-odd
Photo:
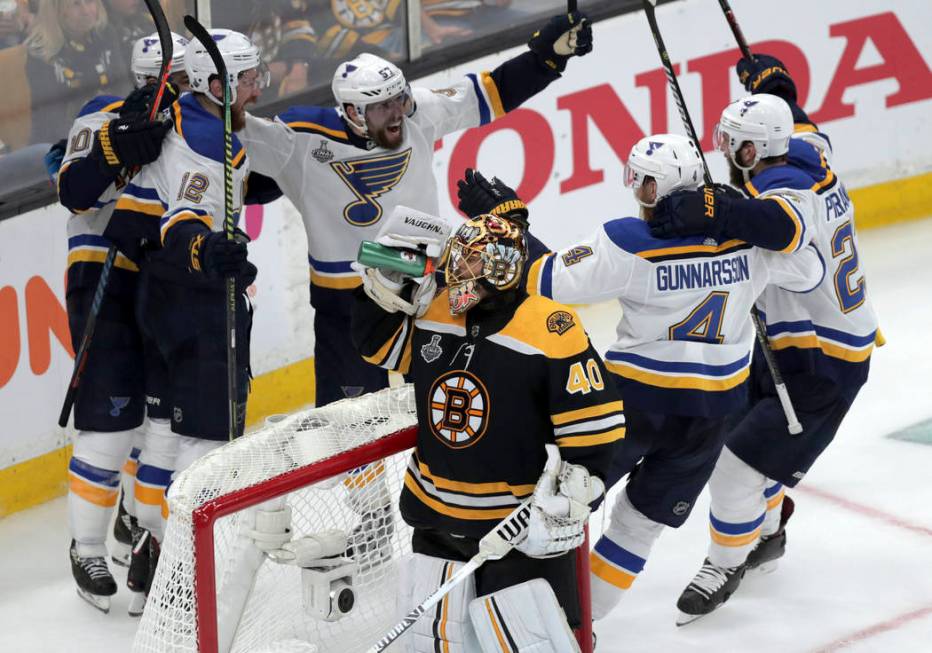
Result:
[[[703,494],[597,624],[599,653],[932,652],[932,446],[885,437],[932,418],[932,220],[860,241],[888,344],[835,442],[791,492],[796,514],[780,568],[746,578],[721,610],[676,628],[676,598],[708,541]],[[582,313],[603,350],[616,309]],[[110,614],[97,612],[75,594],[68,541],[64,499],[0,520],[0,652],[130,649],[137,622],[126,614],[124,571],[116,568]]]

